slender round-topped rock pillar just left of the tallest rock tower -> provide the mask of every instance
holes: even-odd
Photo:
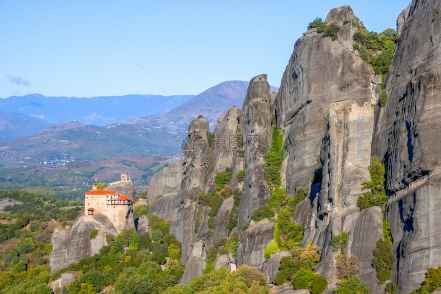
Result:
[[[245,180],[239,205],[239,229],[247,225],[254,210],[267,203],[271,197],[264,177],[264,156],[271,146],[272,138],[269,89],[266,74],[253,77],[242,106]]]

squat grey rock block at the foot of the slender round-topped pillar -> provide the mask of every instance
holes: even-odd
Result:
[[[273,240],[274,223],[258,224],[240,234],[237,242],[236,264],[260,268],[265,261],[264,250]]]

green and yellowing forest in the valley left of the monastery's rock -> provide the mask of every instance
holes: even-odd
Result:
[[[72,223],[81,203],[26,191],[0,192],[0,201],[18,202],[0,213],[0,293],[51,294],[51,234]]]

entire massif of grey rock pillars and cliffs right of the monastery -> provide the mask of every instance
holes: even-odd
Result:
[[[184,151],[191,156],[187,154],[181,165],[186,168],[179,190],[170,198],[159,198],[149,210],[173,219],[171,230],[183,242],[182,262],[187,264],[182,282],[204,271],[210,247],[219,250],[216,267],[252,265],[269,283],[275,282],[282,257],[293,255],[279,251],[264,257],[275,238],[277,211],[266,221],[251,220],[278,188],[266,180],[274,126],[283,134],[280,187],[292,197],[308,191],[290,221],[304,225],[303,247],[319,246],[315,270],[330,288],[340,282],[336,259],[346,251],[348,257],[357,258],[357,276],[370,292],[385,291],[386,284],[379,285],[372,266],[376,243],[385,238],[384,219],[390,223],[396,259],[391,282],[398,284],[399,293],[410,293],[423,282],[429,267],[441,265],[436,221],[441,189],[437,159],[441,139],[436,134],[441,105],[440,5],[414,0],[399,15],[394,57],[384,83],[353,41],[354,35],[366,32],[363,23],[349,6],[342,6],[332,9],[323,24],[338,27],[334,36],[312,27],[295,43],[273,104],[262,74],[251,80],[242,108],[232,107],[219,117],[212,143],[205,119],[191,123]],[[386,92],[387,103],[379,103]],[[237,135],[242,136],[243,147],[228,145],[228,139]],[[193,153],[201,150],[194,158]],[[364,183],[371,180],[374,155],[386,166],[389,200],[386,206],[360,211],[357,200],[366,192]],[[238,181],[242,169],[243,184]],[[227,195],[216,182],[216,175],[227,170],[231,175],[227,186],[242,189],[242,198],[238,207],[237,198],[223,198],[214,217],[213,205],[199,193]],[[157,174],[151,189],[166,178],[165,172]],[[234,217],[236,223],[231,222]],[[215,218],[214,225],[210,218]],[[230,248],[235,258],[225,252],[221,256],[222,240],[236,238],[235,232],[237,249]],[[344,248],[332,248],[332,240],[346,233]]]

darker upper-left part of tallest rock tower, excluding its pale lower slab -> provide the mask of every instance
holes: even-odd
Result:
[[[358,19],[349,6],[332,9],[327,16],[329,22],[343,24],[345,19]],[[311,183],[331,108],[372,99],[373,70],[352,49],[357,31],[352,24],[343,25],[338,40],[332,41],[311,29],[294,45],[275,102],[277,124],[286,138],[286,186],[291,194]]]

